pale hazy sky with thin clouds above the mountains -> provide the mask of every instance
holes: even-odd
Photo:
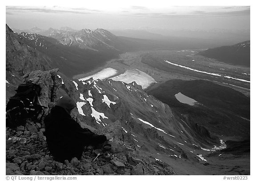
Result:
[[[6,23],[19,29],[250,29],[250,6],[172,6],[161,0],[97,2],[72,7],[6,6]]]

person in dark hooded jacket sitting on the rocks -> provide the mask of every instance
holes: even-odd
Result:
[[[94,134],[86,128],[81,128],[70,116],[70,111],[76,103],[69,97],[58,100],[50,113],[45,117],[45,136],[50,153],[58,161],[81,157],[84,146],[104,143],[105,135]]]

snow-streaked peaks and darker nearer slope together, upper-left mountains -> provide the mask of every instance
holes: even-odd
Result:
[[[117,37],[104,29],[83,29],[76,32],[66,30],[70,28],[50,28],[47,31],[32,28],[29,32],[37,33],[15,33],[6,24],[6,69],[24,75],[32,70],[30,67],[36,66],[38,70],[52,67],[59,68],[62,73],[72,77],[100,67],[126,51],[164,47],[151,40]],[[25,55],[29,58],[24,58]],[[11,61],[15,56],[18,56],[17,59]],[[23,59],[22,65],[19,59]],[[19,63],[16,64],[15,61]]]

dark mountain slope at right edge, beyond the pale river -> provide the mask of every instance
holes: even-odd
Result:
[[[250,67],[250,40],[232,46],[210,48],[199,54],[224,63]]]

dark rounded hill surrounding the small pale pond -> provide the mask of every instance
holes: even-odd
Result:
[[[250,118],[250,99],[231,88],[204,80],[169,80],[149,87],[147,92],[212,132],[242,139],[250,135],[250,122],[245,119]],[[175,98],[179,92],[200,105],[179,102]]]

